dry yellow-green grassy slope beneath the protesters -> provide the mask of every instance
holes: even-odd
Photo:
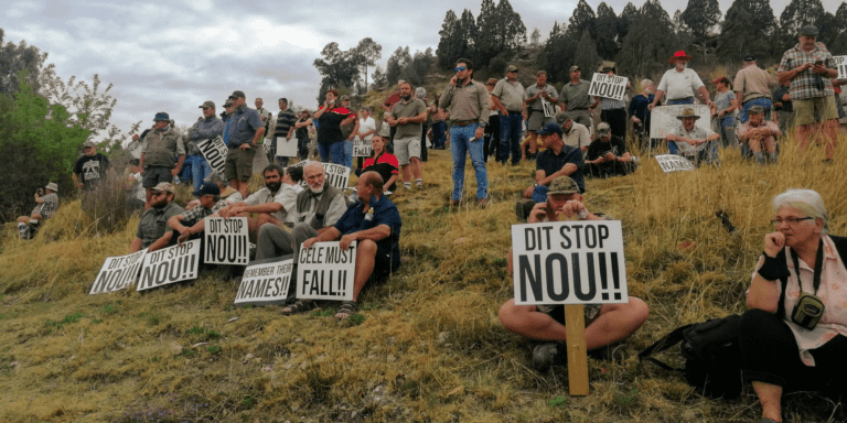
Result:
[[[562,369],[530,370],[533,344],[496,316],[512,293],[504,258],[528,163],[490,164],[493,206],[451,210],[449,152],[432,151],[427,189],[394,198],[404,265],[363,295],[358,325],[234,308],[237,283],[215,274],[87,295],[103,260],[126,251],[137,218],[92,237],[78,202],[65,204],[34,241],[12,228],[2,238],[0,421],[754,421],[751,390],[736,402],[703,399],[634,352],[678,325],[744,310],[774,194],[817,189],[832,231],[847,234],[844,161],[822,166],[815,151],[803,164],[794,153],[789,142],[780,164],[762,169],[727,152],[719,170],[672,175],[646,161],[634,175],[588,183],[589,208],[623,220],[630,293],[651,317],[624,362],[589,360],[586,398],[567,394]],[[467,181],[475,192],[470,165]],[[727,234],[718,209],[737,232]],[[680,249],[686,240],[696,247]],[[792,398],[790,421],[829,417],[825,401]]]

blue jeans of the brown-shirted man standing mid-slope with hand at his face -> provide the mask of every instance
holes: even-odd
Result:
[[[460,200],[464,189],[464,160],[471,153],[471,164],[476,173],[476,198],[489,196],[489,173],[482,156],[482,138],[473,139],[479,123],[467,127],[450,128],[450,152],[453,155],[453,195],[452,199]]]

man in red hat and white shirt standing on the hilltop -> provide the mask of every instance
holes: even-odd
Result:
[[[674,56],[668,59],[674,65],[674,68],[662,75],[662,80],[658,82],[656,89],[656,97],[647,107],[650,110],[656,107],[656,102],[662,100],[662,96],[665,94],[667,94],[667,101],[665,104],[668,106],[694,105],[695,91],[700,95],[703,102],[711,107],[706,85],[703,84],[703,80],[694,69],[687,67],[690,59],[691,56],[685,54],[682,50],[674,53]]]

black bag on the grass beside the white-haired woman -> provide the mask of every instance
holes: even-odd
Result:
[[[741,316],[730,315],[677,327],[639,352],[639,359],[652,361],[665,370],[682,372],[688,384],[707,397],[737,398],[743,386],[738,345],[740,322]],[[674,368],[651,357],[679,343],[685,358],[684,368]]]

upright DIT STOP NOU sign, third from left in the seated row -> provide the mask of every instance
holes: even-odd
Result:
[[[205,250],[203,260],[210,264],[240,264],[250,261],[250,245],[246,217],[207,216],[203,218]]]

